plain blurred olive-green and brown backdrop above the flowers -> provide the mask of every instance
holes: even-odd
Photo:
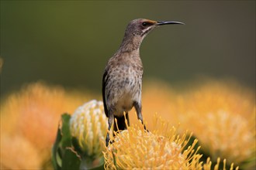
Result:
[[[43,80],[101,92],[130,20],[175,20],[140,48],[144,80],[228,77],[255,87],[255,1],[1,1],[1,95]]]

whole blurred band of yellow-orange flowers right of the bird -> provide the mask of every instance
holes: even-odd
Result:
[[[213,160],[227,158],[227,165],[235,162],[241,167],[249,162],[255,167],[254,93],[232,81],[204,80],[200,86],[182,90],[147,83],[142,98],[144,121],[153,129],[149,120],[157,112],[170,124],[180,124],[179,130],[193,132]]]

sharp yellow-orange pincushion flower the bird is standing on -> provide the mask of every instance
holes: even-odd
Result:
[[[167,131],[168,126],[162,129],[147,132],[142,124],[128,127],[127,130],[116,134],[112,138],[112,145],[106,148],[106,169],[200,169],[201,155],[194,150],[197,140],[192,146],[183,151],[187,141],[185,134],[179,137],[173,127]],[[160,135],[169,134],[167,136]]]

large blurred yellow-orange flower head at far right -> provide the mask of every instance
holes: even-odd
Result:
[[[255,154],[252,91],[229,83],[209,82],[183,94],[178,102],[182,110],[179,121],[193,131],[211,158],[227,158],[227,164],[240,164]]]

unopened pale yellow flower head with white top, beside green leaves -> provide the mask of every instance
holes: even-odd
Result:
[[[91,100],[78,107],[71,116],[70,129],[86,155],[93,158],[102,156],[107,131],[102,101]]]

